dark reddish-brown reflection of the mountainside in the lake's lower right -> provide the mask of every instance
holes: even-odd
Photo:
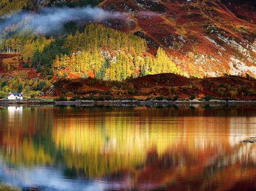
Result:
[[[164,186],[166,190],[230,190],[239,185],[242,190],[253,190],[256,184],[248,180],[256,179],[255,151],[256,145],[245,143],[209,157],[207,153],[193,157],[186,150],[170,150],[139,172],[136,185],[139,189]]]

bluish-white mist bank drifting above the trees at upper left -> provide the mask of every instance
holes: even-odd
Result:
[[[0,19],[0,32],[2,34],[7,32],[6,27],[10,28],[15,24],[17,32],[31,30],[40,35],[60,31],[63,29],[63,23],[71,20],[100,22],[109,18],[125,19],[126,16],[120,12],[102,10],[100,7],[44,7],[38,14],[18,12],[16,15],[6,15],[5,18]],[[23,24],[18,24],[19,22]]]

